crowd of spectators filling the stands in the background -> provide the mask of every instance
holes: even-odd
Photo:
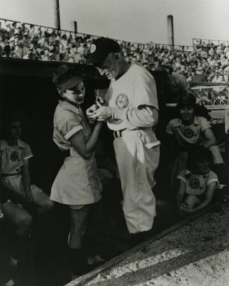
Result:
[[[0,55],[27,60],[85,63],[97,36],[75,34],[20,22],[0,20]],[[118,41],[127,62],[154,70],[172,65],[187,81],[228,82],[229,47],[226,43],[197,41],[193,47]]]

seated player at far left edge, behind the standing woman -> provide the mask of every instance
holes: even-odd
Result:
[[[5,137],[0,141],[0,186],[6,222],[13,229],[15,238],[12,245],[15,263],[22,259],[23,251],[29,247],[32,216],[28,209],[45,214],[53,207],[46,193],[31,182],[29,158],[33,154],[29,145],[20,139],[21,135],[22,121],[12,116],[6,124]]]

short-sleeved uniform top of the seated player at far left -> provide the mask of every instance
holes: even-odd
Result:
[[[33,156],[29,144],[18,139],[18,144],[11,146],[6,139],[0,141],[1,176],[18,191],[22,192],[22,166],[25,160]]]

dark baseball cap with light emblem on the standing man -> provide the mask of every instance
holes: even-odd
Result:
[[[109,53],[119,53],[120,46],[118,43],[109,38],[96,39],[90,46],[90,54],[87,63],[99,65],[106,59]]]

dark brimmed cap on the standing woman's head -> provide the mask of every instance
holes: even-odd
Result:
[[[63,89],[74,88],[78,83],[83,81],[83,77],[76,74],[76,69],[63,64],[53,73],[53,83]]]

